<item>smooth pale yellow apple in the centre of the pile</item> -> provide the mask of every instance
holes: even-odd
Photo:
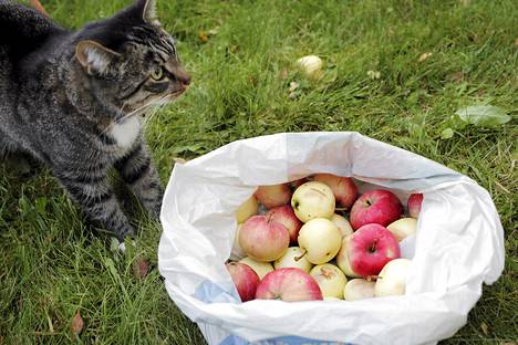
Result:
[[[315,218],[300,228],[298,241],[308,261],[320,264],[336,255],[342,245],[342,234],[331,220]]]

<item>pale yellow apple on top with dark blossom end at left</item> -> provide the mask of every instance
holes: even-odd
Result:
[[[334,195],[325,184],[310,181],[296,189],[291,207],[302,222],[334,215]]]

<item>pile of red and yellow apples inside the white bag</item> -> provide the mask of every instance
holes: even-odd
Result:
[[[241,301],[404,294],[400,241],[415,232],[422,200],[413,194],[404,217],[393,192],[359,196],[351,178],[330,174],[258,187],[236,212],[234,245],[247,257],[226,264]]]

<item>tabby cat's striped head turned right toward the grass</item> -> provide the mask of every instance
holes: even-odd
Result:
[[[170,102],[190,83],[174,39],[156,17],[156,0],[137,0],[86,25],[75,38],[74,63],[91,92],[125,114]]]

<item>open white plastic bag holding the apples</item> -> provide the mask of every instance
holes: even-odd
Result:
[[[225,262],[236,209],[260,185],[315,172],[352,176],[424,201],[406,295],[355,302],[240,303]],[[504,269],[504,233],[488,192],[437,163],[358,133],[239,140],[176,165],[162,208],[158,266],[168,294],[209,344],[425,344],[460,328]],[[415,247],[414,247],[415,245]],[[415,249],[415,251],[413,250]],[[415,254],[414,254],[415,253]]]

